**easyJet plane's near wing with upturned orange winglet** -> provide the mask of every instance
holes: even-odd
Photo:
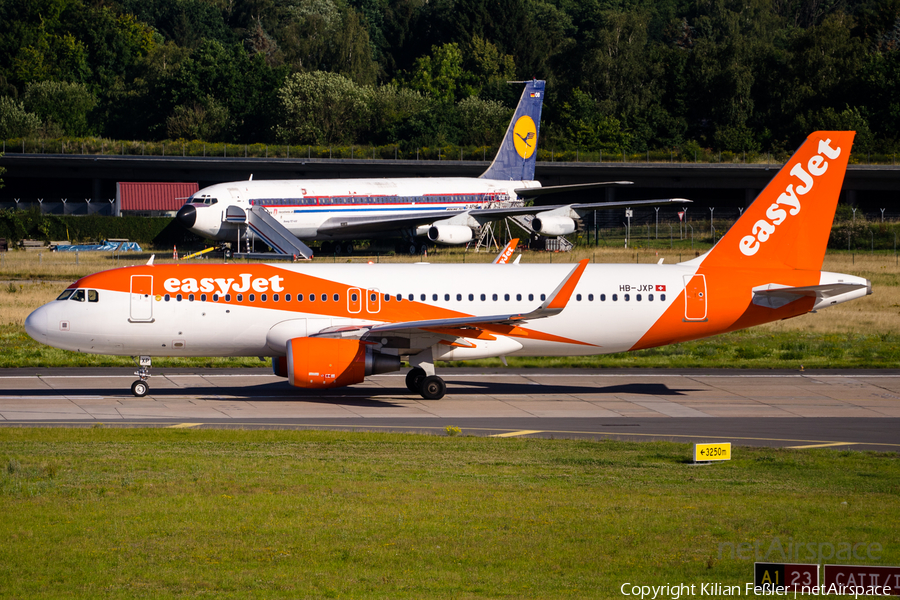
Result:
[[[572,297],[572,292],[581,275],[587,268],[588,259],[584,259],[575,265],[575,268],[566,275],[565,279],[556,286],[547,299],[541,303],[536,309],[527,313],[506,313],[497,315],[486,315],[481,317],[467,316],[454,317],[450,319],[428,319],[421,321],[405,321],[400,323],[380,323],[371,325],[343,325],[337,327],[328,327],[310,337],[349,337],[366,339],[376,337],[388,332],[413,333],[426,331],[435,333],[435,329],[479,329],[485,325],[522,325],[533,319],[543,319],[552,317],[563,311]],[[446,335],[446,333],[444,333]],[[455,335],[455,334],[454,334]],[[457,337],[465,337],[459,335]]]

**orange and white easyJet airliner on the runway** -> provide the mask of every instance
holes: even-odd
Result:
[[[39,342],[140,357],[269,356],[301,388],[437,360],[622,352],[803,315],[872,291],[823,272],[853,132],[809,136],[709,252],[674,265],[143,265],[79,279],[25,321]]]

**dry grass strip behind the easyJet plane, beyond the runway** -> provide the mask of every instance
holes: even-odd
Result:
[[[702,249],[695,251],[699,252]],[[675,249],[626,250],[584,248],[572,253],[528,252],[526,263],[592,262],[649,263],[665,259],[686,260],[691,253]],[[679,254],[681,252],[681,254]],[[22,323],[34,308],[51,301],[74,279],[100,270],[140,264],[149,254],[113,257],[84,253],[10,252],[0,261],[0,368],[27,366],[130,366],[129,358],[75,354],[42,346],[25,334]],[[489,252],[465,253],[441,249],[433,262],[489,262]],[[334,257],[316,259],[333,262]],[[354,257],[347,261],[411,262],[417,257]],[[171,258],[157,263],[172,262]],[[510,366],[578,367],[734,367],[734,368],[860,368],[900,367],[900,266],[892,253],[850,254],[829,252],[823,267],[828,271],[866,277],[874,294],[837,305],[817,314],[771,323],[751,330],[675,344],[639,352],[561,359],[511,358]],[[256,358],[156,359],[154,366],[259,366]],[[472,361],[460,365],[499,367],[499,360]],[[449,366],[449,365],[445,365]]]

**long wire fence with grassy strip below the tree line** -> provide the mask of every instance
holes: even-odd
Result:
[[[497,146],[436,145],[413,147],[406,144],[310,146],[285,144],[227,144],[197,140],[158,142],[109,140],[104,138],[13,138],[3,140],[6,154],[54,154],[97,156],[171,156],[266,159],[356,159],[356,160],[448,160],[490,162]],[[541,162],[589,163],[705,163],[783,165],[790,152],[720,152],[697,144],[668,149],[632,152],[627,148],[600,151],[539,148]],[[851,164],[896,165],[897,153],[854,151]]]

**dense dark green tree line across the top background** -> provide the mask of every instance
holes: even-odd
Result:
[[[0,138],[895,152],[900,0],[0,0]]]

